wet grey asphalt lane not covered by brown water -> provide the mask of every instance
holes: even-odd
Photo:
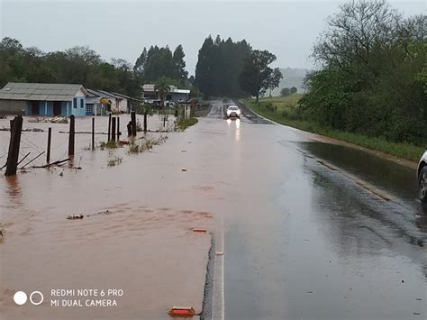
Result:
[[[222,107],[207,118],[226,122]],[[228,124],[226,319],[427,317],[427,209],[413,169],[244,108]]]

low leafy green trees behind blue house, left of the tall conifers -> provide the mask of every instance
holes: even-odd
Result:
[[[7,82],[78,83],[139,96],[142,78],[123,59],[105,62],[87,47],[45,53],[23,48],[12,38],[0,42],[0,87]]]

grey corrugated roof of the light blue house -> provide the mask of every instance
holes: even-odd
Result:
[[[71,101],[82,90],[82,85],[59,83],[18,83],[9,82],[0,89],[0,99],[3,100],[36,100],[36,101]]]

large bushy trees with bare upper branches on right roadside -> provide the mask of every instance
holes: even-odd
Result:
[[[350,2],[313,49],[298,113],[334,129],[393,142],[427,141],[426,16],[404,19],[385,1]]]

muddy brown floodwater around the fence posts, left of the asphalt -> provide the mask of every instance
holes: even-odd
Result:
[[[123,133],[129,118],[121,116]],[[1,120],[0,128],[9,120]],[[159,130],[159,120],[157,115],[150,117],[149,129]],[[106,133],[107,122],[107,117],[96,117],[95,131]],[[23,132],[20,159],[29,151],[31,159],[45,150],[48,127],[52,127],[51,161],[67,158],[68,134],[59,132],[68,132],[68,124],[29,123],[25,117],[23,129],[44,132]],[[90,117],[76,119],[77,132],[90,128]],[[148,134],[166,142],[140,154],[128,154],[126,145],[90,151],[91,135],[77,134],[72,163],[28,168],[12,178],[2,172],[0,222],[6,231],[0,240],[2,319],[167,319],[168,308],[174,305],[201,311],[209,232],[215,225],[215,213],[206,210],[203,201],[210,197],[210,188],[199,183],[187,163],[195,153],[186,133]],[[138,138],[142,136],[139,133]],[[9,137],[10,133],[0,132],[2,165]],[[105,142],[106,135],[96,134],[95,140]],[[107,165],[117,158],[122,162]],[[32,165],[45,161],[43,155]],[[187,172],[181,171],[184,166]],[[77,214],[85,217],[66,219]],[[208,233],[193,233],[193,227],[204,227]],[[77,297],[77,291],[74,297],[51,295],[52,289],[90,288],[123,290],[123,295]],[[13,297],[18,290],[27,295],[40,291],[44,301],[40,306],[30,302],[17,306]],[[86,306],[90,299],[115,300],[117,306]],[[55,300],[59,306],[51,306]],[[82,306],[61,306],[74,300]]]

